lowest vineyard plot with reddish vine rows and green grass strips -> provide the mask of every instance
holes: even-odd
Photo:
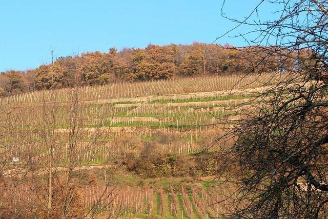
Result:
[[[97,212],[97,218],[210,218],[230,209],[229,198],[237,188],[201,183],[169,182],[165,186],[88,185],[79,189],[79,205]],[[214,184],[213,184],[214,185]],[[15,190],[20,202],[33,200],[31,189]],[[13,198],[13,195],[12,195]]]

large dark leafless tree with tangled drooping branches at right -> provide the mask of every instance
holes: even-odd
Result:
[[[261,6],[278,8],[277,18],[261,21]],[[275,57],[281,61],[276,73],[281,79],[268,82],[270,89],[258,94],[256,105],[244,108],[241,120],[217,140],[234,140],[221,147],[217,169],[239,188],[226,197],[231,203],[225,216],[327,218],[328,1],[261,0],[241,21],[229,19],[237,25],[226,34],[242,25],[251,31],[234,37],[257,33],[248,41],[257,45],[256,52],[234,48],[253,57],[248,74],[261,73]],[[285,71],[287,59],[292,68]]]

